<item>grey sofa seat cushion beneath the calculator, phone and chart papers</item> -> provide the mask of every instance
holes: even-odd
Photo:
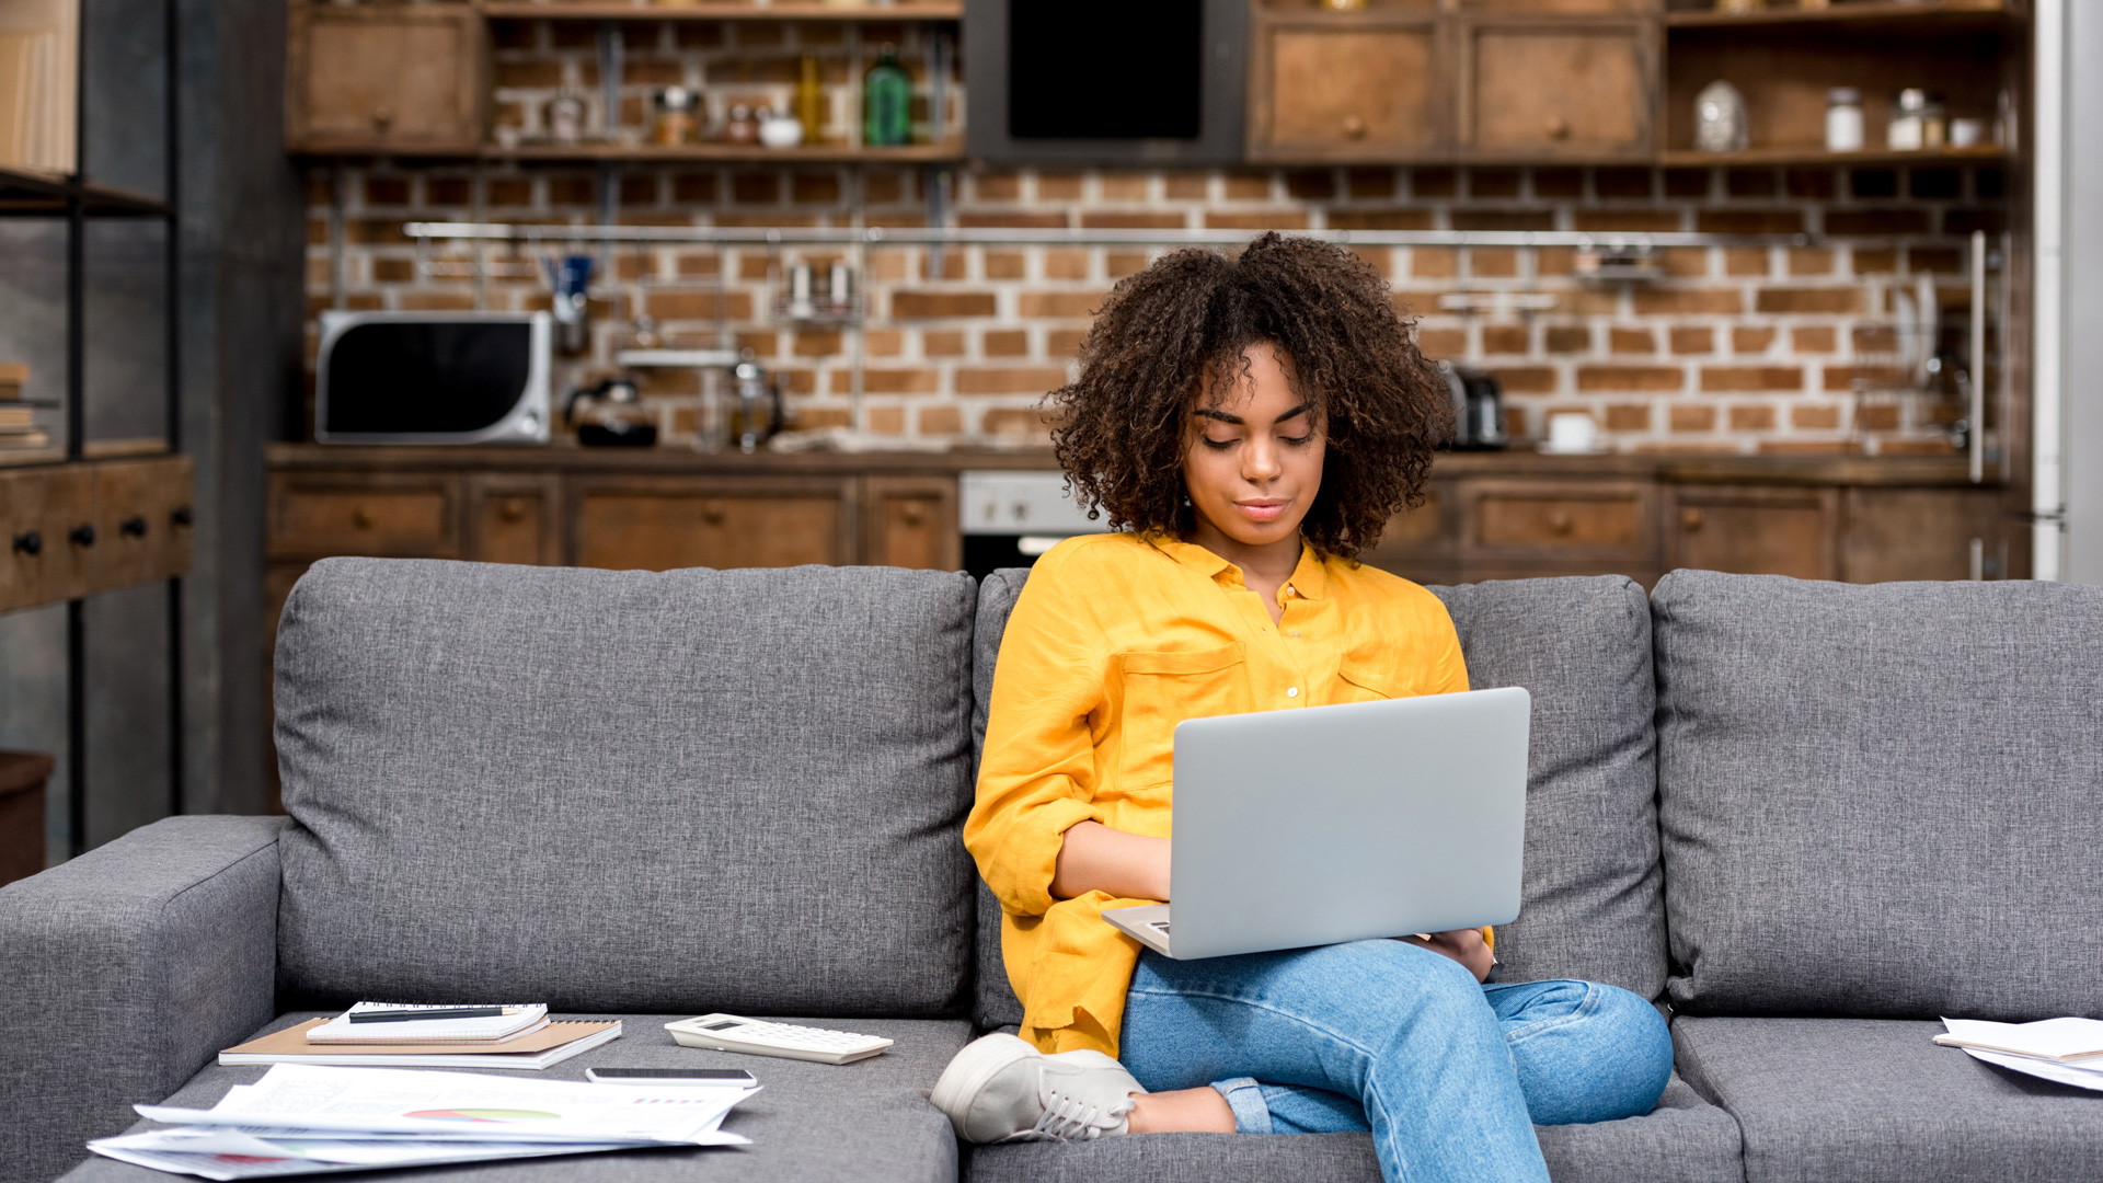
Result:
[[[265,1031],[290,1027],[315,1012],[284,1015]],[[742,1067],[761,1092],[738,1105],[723,1128],[753,1139],[749,1147],[627,1149],[524,1162],[486,1162],[429,1170],[389,1170],[389,1183],[801,1183],[856,1179],[869,1183],[953,1183],[957,1141],[948,1118],[927,1103],[942,1067],[972,1040],[957,1019],[782,1019],[843,1027],[896,1040],[879,1057],[831,1065],[681,1048],[665,1023],[690,1015],[557,1015],[557,1019],[620,1019],[620,1038],[545,1071],[505,1071],[528,1080],[585,1080],[587,1067]],[[252,1084],[267,1067],[210,1065],[168,1097],[168,1105],[208,1109],[236,1084]],[[139,1122],[135,1130],[154,1128]],[[114,1130],[111,1130],[114,1132]],[[166,1183],[168,1175],[90,1156],[67,1183]]]

